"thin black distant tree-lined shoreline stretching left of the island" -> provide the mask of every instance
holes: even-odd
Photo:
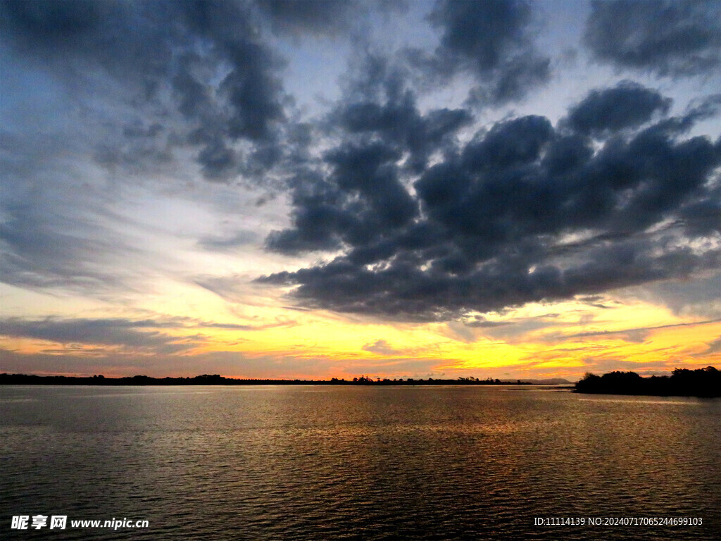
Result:
[[[0,374],[0,385],[554,385],[571,384],[566,379],[477,379],[473,377],[459,379],[371,379],[361,376],[353,379],[239,379],[222,377],[218,374],[203,374],[195,377],[150,376],[105,377],[102,375],[75,376],[37,376],[35,374]]]

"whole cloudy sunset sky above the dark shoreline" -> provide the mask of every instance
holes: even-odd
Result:
[[[719,1],[3,1],[0,371],[721,366],[719,89]]]

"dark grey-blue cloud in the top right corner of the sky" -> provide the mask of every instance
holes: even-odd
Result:
[[[721,63],[716,0],[594,1],[584,41],[619,68],[665,76],[708,74]]]

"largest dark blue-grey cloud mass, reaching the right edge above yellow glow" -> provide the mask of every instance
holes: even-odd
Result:
[[[640,111],[598,117],[629,103]],[[712,232],[721,141],[683,138],[694,110],[647,125],[667,110],[635,84],[594,91],[559,128],[528,115],[446,148],[412,190],[399,182],[402,138],[342,143],[327,175],[294,189],[293,228],[268,239],[342,255],[259,280],[297,286],[304,307],[447,320],[716,268],[721,250],[692,243]],[[699,206],[709,221],[694,226]]]

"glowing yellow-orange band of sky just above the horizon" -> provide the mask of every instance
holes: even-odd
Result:
[[[255,302],[249,297],[247,304],[230,303],[208,291],[187,288],[182,296],[169,296],[164,291],[159,298],[164,299],[164,309],[172,308],[176,313],[157,317],[158,312],[149,306],[134,308],[135,320],[140,321],[138,314],[146,314],[150,321],[138,327],[127,324],[127,330],[139,337],[137,346],[112,343],[124,336],[110,335],[93,343],[90,337],[88,342],[78,342],[70,338],[53,340],[48,335],[4,337],[0,347],[12,351],[13,359],[82,357],[86,370],[94,366],[93,373],[111,377],[138,373],[134,364],[127,362],[133,356],[146,359],[143,373],[154,376],[193,376],[207,371],[202,368],[203,362],[197,368],[178,371],[172,357],[187,366],[193,360],[222,356],[213,373],[293,379],[361,374],[575,379],[586,371],[661,373],[676,366],[696,368],[721,361],[720,348],[714,346],[721,335],[720,320],[675,315],[662,305],[612,296],[596,303],[570,300],[526,304],[503,314],[487,314],[476,325],[458,321],[387,322],[298,311],[278,306],[278,299],[261,296]],[[187,317],[187,313],[194,317]],[[113,321],[125,321],[122,312],[112,317],[106,313],[104,318],[110,326]],[[52,318],[45,321],[53,322]],[[79,317],[77,321],[85,320]],[[159,323],[154,326],[153,322]],[[152,359],[163,357],[164,346],[170,348],[165,352],[167,361],[156,368]],[[107,359],[114,359],[110,366]],[[265,369],[256,361],[262,361]]]

